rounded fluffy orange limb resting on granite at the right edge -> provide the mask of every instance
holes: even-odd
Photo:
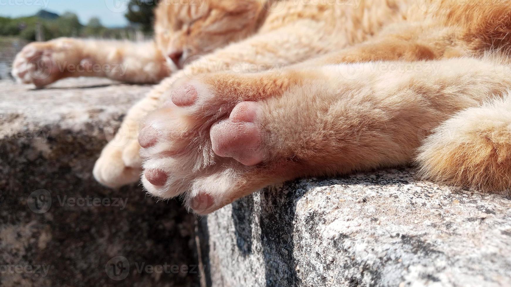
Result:
[[[421,174],[485,191],[511,190],[511,96],[461,111],[420,148]]]

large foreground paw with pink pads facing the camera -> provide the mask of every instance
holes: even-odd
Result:
[[[275,83],[271,76],[217,74],[177,88],[147,116],[138,137],[147,192],[183,195],[190,210],[204,215],[286,178],[286,164],[270,160],[261,116],[263,99],[282,93]]]

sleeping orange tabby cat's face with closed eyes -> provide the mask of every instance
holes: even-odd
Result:
[[[261,0],[161,0],[156,9],[156,43],[169,67],[180,69],[255,29]],[[188,60],[188,61],[187,61]]]

